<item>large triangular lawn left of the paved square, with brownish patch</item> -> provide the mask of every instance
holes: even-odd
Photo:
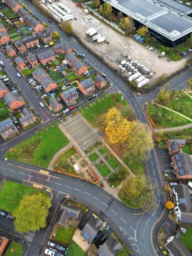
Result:
[[[47,168],[53,156],[68,143],[67,137],[54,125],[11,148],[5,157]]]

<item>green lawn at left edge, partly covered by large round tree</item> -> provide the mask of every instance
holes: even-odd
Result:
[[[24,195],[38,192],[37,189],[12,181],[0,183],[0,209],[12,213]]]

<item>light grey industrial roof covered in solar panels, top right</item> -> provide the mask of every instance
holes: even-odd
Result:
[[[183,13],[183,5],[175,11],[168,6],[170,1],[168,5],[150,0],[104,1],[171,41],[192,32],[192,19]]]

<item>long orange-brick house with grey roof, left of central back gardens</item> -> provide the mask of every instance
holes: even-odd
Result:
[[[33,72],[33,76],[41,84],[45,92],[51,92],[57,89],[57,84],[53,79],[44,71],[44,69],[36,68]]]

